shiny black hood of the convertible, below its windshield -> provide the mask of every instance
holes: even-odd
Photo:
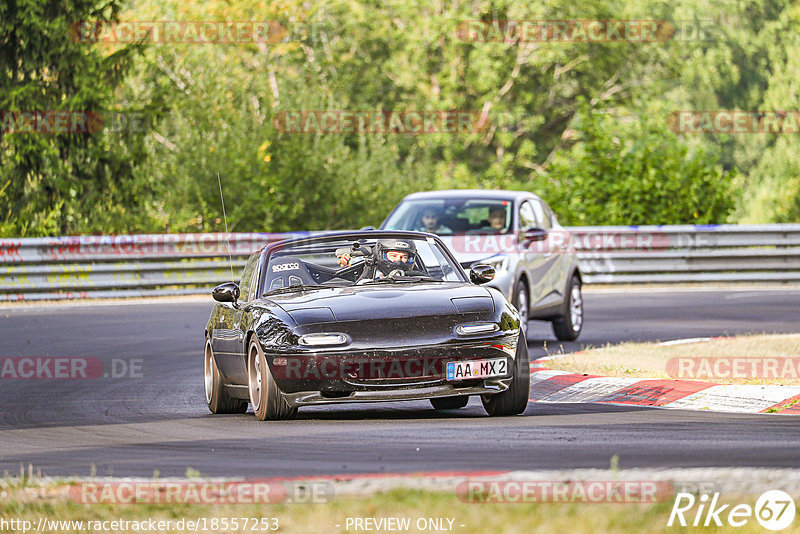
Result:
[[[397,283],[315,289],[268,297],[298,324],[445,316],[494,310],[486,288],[470,284]]]

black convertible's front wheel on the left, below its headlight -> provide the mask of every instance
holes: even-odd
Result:
[[[264,351],[255,336],[250,340],[247,350],[247,386],[253,413],[259,421],[294,419],[297,415],[297,408],[289,406],[275,383]]]

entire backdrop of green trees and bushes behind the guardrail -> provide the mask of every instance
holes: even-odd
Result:
[[[530,189],[582,224],[765,222],[800,211],[789,136],[666,126],[675,110],[791,109],[796,0],[141,0],[119,16],[277,21],[288,33],[154,44],[135,60],[138,47],[63,37],[70,22],[118,16],[117,3],[95,6],[0,6],[5,42],[17,43],[2,51],[0,109],[151,113],[158,103],[161,113],[149,133],[0,138],[5,235],[220,230],[217,173],[237,231],[378,224],[403,195],[451,187]],[[506,19],[697,21],[711,34],[587,43],[458,32]],[[272,124],[281,111],[329,109],[466,110],[486,127],[289,134]]]

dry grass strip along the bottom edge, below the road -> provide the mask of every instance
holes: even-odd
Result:
[[[748,501],[751,505],[755,497]],[[145,505],[77,504],[54,496],[46,486],[6,485],[0,492],[0,519],[28,520],[36,525],[40,517],[60,521],[144,521],[149,518],[276,518],[278,532],[338,533],[347,529],[347,518],[409,518],[411,528],[402,532],[437,532],[417,528],[420,518],[453,519],[451,532],[457,533],[629,533],[629,532],[722,532],[722,528],[668,528],[672,499],[654,504],[472,504],[450,492],[398,489],[368,497],[336,498],[324,504],[294,505]],[[760,532],[753,519],[737,532]],[[35,528],[35,527],[34,527]],[[19,530],[19,529],[18,529]],[[214,532],[223,531],[218,528]],[[51,529],[50,532],[78,532],[74,529]],[[83,532],[86,530],[84,529]],[[119,532],[133,530],[118,529]],[[171,530],[183,532],[184,530]],[[200,530],[202,531],[202,529]],[[442,532],[444,530],[439,530]],[[232,530],[227,532],[253,532]],[[262,531],[263,532],[263,531]],[[364,530],[361,530],[364,532]],[[384,532],[386,532],[384,530]]]

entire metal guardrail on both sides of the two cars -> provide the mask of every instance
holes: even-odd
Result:
[[[572,227],[589,284],[798,282],[800,224]],[[0,301],[197,294],[266,243],[237,233],[0,239]]]

